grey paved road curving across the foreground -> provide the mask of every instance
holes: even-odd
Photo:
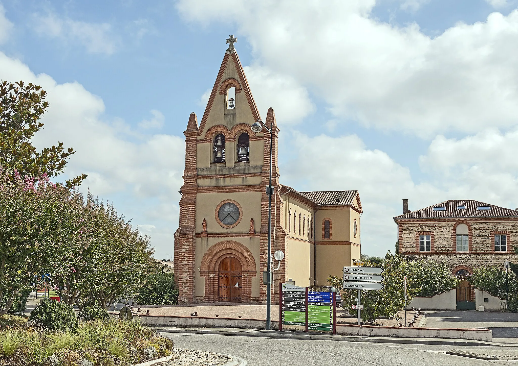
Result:
[[[249,366],[472,366],[488,362],[444,354],[450,349],[488,352],[496,347],[453,347],[433,345],[376,344],[338,341],[306,341],[260,337],[218,336],[212,334],[162,333],[175,341],[175,347],[231,354],[248,361]],[[499,348],[501,349],[501,348]],[[507,348],[509,350],[509,348]],[[518,347],[514,348],[518,353]],[[516,364],[516,361],[514,361]]]

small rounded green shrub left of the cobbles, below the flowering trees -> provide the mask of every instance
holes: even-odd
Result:
[[[41,323],[45,327],[66,331],[77,328],[77,315],[74,309],[65,302],[43,299],[31,312],[29,322]]]

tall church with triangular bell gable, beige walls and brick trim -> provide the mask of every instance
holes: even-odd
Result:
[[[251,130],[263,119],[230,40],[202,120],[198,125],[192,113],[184,132],[174,251],[179,303],[266,302],[270,134]],[[354,190],[298,192],[280,185],[273,109],[264,121],[274,133],[272,253],[285,253],[272,281],[275,303],[279,283],[326,285],[328,275],[341,277],[342,267],[359,259],[362,204]]]

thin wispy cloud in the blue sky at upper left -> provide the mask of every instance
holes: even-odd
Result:
[[[59,38],[67,44],[80,43],[90,53],[111,55],[117,50],[118,40],[108,23],[87,23],[48,13],[34,14],[33,26],[41,36]]]

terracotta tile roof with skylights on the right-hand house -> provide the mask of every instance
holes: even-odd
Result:
[[[444,207],[444,209],[434,210],[434,207]],[[489,209],[478,209],[478,207],[489,207]],[[518,211],[474,200],[448,200],[409,212],[408,214],[396,216],[394,219],[461,219],[477,217],[518,217]]]

